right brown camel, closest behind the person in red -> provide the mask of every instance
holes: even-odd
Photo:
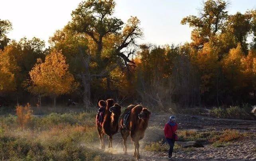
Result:
[[[130,135],[132,142],[134,142],[134,157],[140,159],[139,140],[144,137],[151,112],[141,105],[136,105],[135,107],[134,105],[130,105],[125,111],[127,113],[130,111],[130,115],[127,117],[124,114],[120,120],[120,132],[123,138],[124,154],[127,154],[126,141]],[[127,126],[124,125],[125,117],[127,117]]]

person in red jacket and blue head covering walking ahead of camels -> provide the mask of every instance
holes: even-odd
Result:
[[[165,138],[170,146],[169,155],[168,155],[169,159],[171,159],[171,156],[172,156],[175,140],[178,139],[177,135],[176,135],[177,126],[178,125],[176,123],[175,116],[169,117],[168,123],[165,124],[165,126],[164,126],[164,135],[165,135]]]

